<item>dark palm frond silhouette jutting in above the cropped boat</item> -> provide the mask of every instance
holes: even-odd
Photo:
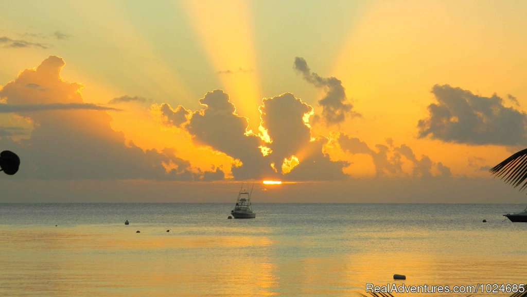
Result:
[[[527,188],[527,149],[516,152],[489,171],[513,187],[523,184],[520,190],[524,190]]]

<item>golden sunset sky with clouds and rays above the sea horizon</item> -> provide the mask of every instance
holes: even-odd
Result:
[[[0,0],[0,202],[525,203],[526,13]]]

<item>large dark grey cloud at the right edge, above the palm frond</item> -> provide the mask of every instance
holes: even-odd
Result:
[[[481,97],[448,84],[434,85],[432,93],[437,103],[428,106],[428,118],[419,120],[419,138],[471,145],[527,143],[527,114],[503,106],[496,94]]]

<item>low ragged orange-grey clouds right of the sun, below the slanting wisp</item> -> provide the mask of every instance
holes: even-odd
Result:
[[[378,144],[375,146],[376,149],[372,149],[366,142],[341,133],[338,137],[338,143],[349,154],[366,154],[372,157],[377,176],[404,175],[402,157],[412,164],[412,176],[423,178],[451,176],[450,168],[441,162],[435,163],[426,155],[419,159],[407,145],[394,146],[392,139],[387,139],[387,146]]]

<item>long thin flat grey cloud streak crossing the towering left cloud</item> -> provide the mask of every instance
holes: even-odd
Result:
[[[99,106],[93,103],[0,104],[0,113],[75,109],[119,111],[119,109]]]

